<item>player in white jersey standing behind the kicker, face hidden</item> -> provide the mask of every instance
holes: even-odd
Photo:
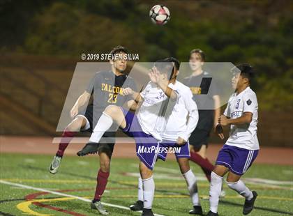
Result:
[[[178,63],[179,64],[179,63]],[[191,201],[193,203],[193,210],[190,210],[190,214],[202,215],[202,206],[200,206],[200,199],[197,192],[197,180],[193,171],[189,166],[189,143],[188,139],[190,134],[195,130],[198,122],[197,105],[193,100],[193,94],[190,88],[179,81],[176,81],[177,71],[172,75],[170,79],[170,88],[178,93],[179,98],[175,105],[172,102],[169,103],[169,107],[166,107],[164,118],[166,118],[165,129],[161,133],[163,139],[159,144],[158,158],[166,160],[168,148],[176,148],[176,142],[179,139],[183,139],[186,142],[185,145],[179,148],[178,152],[175,152],[176,160],[179,164],[180,171],[183,178],[186,180],[188,192],[190,194]],[[188,121],[187,121],[188,119]],[[142,178],[138,180],[138,200],[130,206],[131,210],[143,210],[144,207],[144,193],[142,188]],[[153,194],[155,188],[152,188]]]

